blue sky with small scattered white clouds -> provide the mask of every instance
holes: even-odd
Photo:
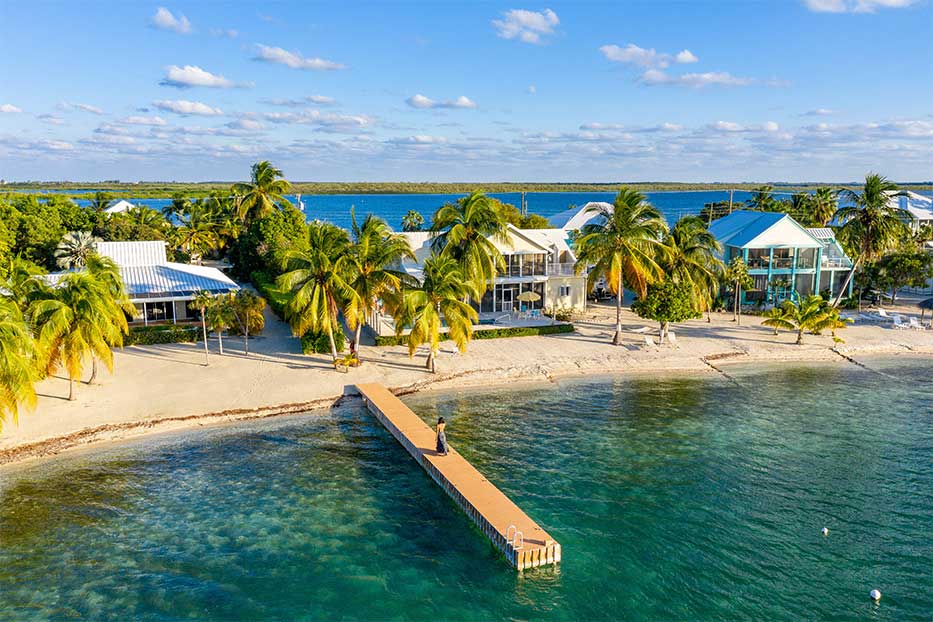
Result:
[[[933,0],[0,2],[0,178],[933,179]]]

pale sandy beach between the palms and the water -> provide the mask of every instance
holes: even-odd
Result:
[[[916,308],[900,311],[916,314]],[[852,365],[873,354],[933,355],[933,330],[856,325],[839,332],[844,344],[829,335],[806,335],[798,346],[795,334],[774,336],[760,318],[744,316],[737,326],[725,313],[713,314],[710,323],[674,326],[677,346],[647,347],[644,335],[633,332],[613,346],[614,317],[613,307],[598,305],[574,321],[576,333],[479,340],[462,355],[447,342],[436,375],[424,368],[426,350],[410,359],[405,347],[364,347],[361,367],[335,372],[329,356],[302,355],[289,328],[271,315],[264,334],[250,339],[248,357],[243,340],[234,337],[224,339],[223,356],[216,338],[210,340],[207,366],[201,343],[128,347],[115,353],[112,375],[103,371],[98,384],[78,386],[74,402],[67,400],[63,377],[43,381],[37,408],[22,413],[18,424],[7,421],[0,432],[0,464],[153,432],[329,407],[362,382],[402,394],[567,375],[728,373],[730,364],[757,361]],[[644,326],[656,340],[657,325],[624,311],[626,331]]]

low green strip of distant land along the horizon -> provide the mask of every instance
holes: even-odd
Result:
[[[81,198],[87,192],[103,190],[116,198],[158,199],[171,198],[180,192],[187,197],[207,196],[211,191],[229,191],[232,182],[139,182],[125,183],[101,181],[88,183],[71,182],[16,182],[0,186],[3,193],[42,193],[55,192],[63,196]],[[522,183],[522,182],[293,182],[290,193],[310,195],[340,194],[466,194],[474,189],[482,189],[493,194],[520,192],[615,192],[621,187],[634,188],[642,192],[704,192],[728,190],[753,191],[767,183],[781,192],[813,190],[819,186],[832,188],[858,188],[858,182],[614,182],[614,183]],[[903,182],[905,190],[933,190],[933,182]],[[74,193],[74,194],[69,194]]]

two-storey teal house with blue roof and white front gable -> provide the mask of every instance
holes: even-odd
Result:
[[[742,304],[780,304],[809,294],[839,293],[850,260],[832,229],[808,229],[787,214],[737,210],[709,226],[728,264],[742,257],[754,285]],[[852,294],[849,283],[847,295]]]

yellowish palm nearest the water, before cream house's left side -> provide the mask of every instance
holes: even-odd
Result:
[[[448,255],[434,255],[424,262],[424,276],[418,287],[407,289],[402,294],[402,303],[396,317],[396,330],[401,334],[405,326],[411,326],[408,334],[408,356],[423,343],[430,346],[425,367],[437,373],[437,353],[440,344],[441,324],[447,325],[448,335],[457,349],[466,350],[473,336],[473,323],[479,314],[466,296],[472,286],[464,278],[463,268]]]

